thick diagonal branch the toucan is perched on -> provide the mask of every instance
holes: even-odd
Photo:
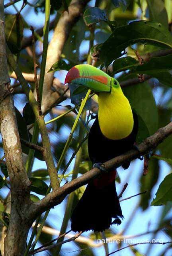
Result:
[[[139,146],[138,149],[142,155],[147,154],[153,148],[156,148],[158,144],[160,144],[166,137],[172,134],[172,122],[168,125],[160,128],[155,134],[145,139]],[[117,156],[107,162],[104,163],[105,168],[109,170],[110,168],[117,168],[121,166],[121,164],[134,160],[139,157],[139,152],[137,150],[130,150],[121,156]],[[87,184],[90,180],[96,178],[101,174],[101,171],[98,168],[93,168],[86,174],[83,174],[79,178],[68,182],[63,187],[61,187],[58,191],[53,191],[45,198],[40,200],[39,202],[34,203],[30,208],[29,216],[31,218],[36,218],[36,216],[45,210],[60,204],[66,195],[70,194],[72,191],[76,190],[80,186]]]

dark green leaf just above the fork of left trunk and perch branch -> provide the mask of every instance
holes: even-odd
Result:
[[[30,178],[30,181],[31,181],[31,191],[45,196],[48,189],[47,184],[43,180],[40,180],[38,178],[33,178],[33,177]]]

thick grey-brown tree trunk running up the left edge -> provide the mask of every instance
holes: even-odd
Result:
[[[11,216],[4,242],[4,256],[22,255],[29,231],[25,211],[32,204],[30,181],[25,172],[10,78],[6,60],[4,3],[0,0],[0,122],[6,165],[11,183]]]

